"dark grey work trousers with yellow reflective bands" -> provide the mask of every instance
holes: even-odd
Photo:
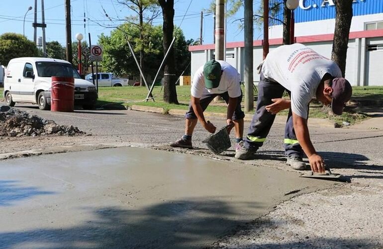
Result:
[[[286,90],[278,82],[274,82],[265,78],[263,74],[261,74],[260,77],[261,79],[258,84],[257,109],[253,116],[253,120],[251,121],[247,137],[244,139],[244,147],[251,150],[257,150],[263,145],[267,135],[270,132],[271,126],[274,123],[276,115],[266,111],[266,106],[273,104],[272,99],[282,98],[283,93]],[[303,156],[302,147],[296,139],[294,126],[292,123],[291,108],[288,112],[285,127],[284,145],[287,156]]]

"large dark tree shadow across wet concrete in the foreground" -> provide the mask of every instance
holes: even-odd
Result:
[[[245,203],[257,209],[255,202]],[[243,220],[231,219],[236,212],[220,200],[170,200],[140,210],[105,207],[86,210],[92,221],[57,229],[0,233],[0,248],[198,248],[227,234]],[[70,217],[68,217],[70,219]],[[206,246],[206,244],[205,244]]]

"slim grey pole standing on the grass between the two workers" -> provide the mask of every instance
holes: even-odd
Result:
[[[245,81],[245,112],[254,109],[253,91],[253,0],[245,0],[245,51],[244,51],[244,81]]]

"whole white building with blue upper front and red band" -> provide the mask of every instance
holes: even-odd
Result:
[[[331,58],[334,0],[299,0],[295,13],[295,42]],[[283,19],[283,13],[275,18]],[[282,45],[283,25],[269,27],[270,50]],[[262,61],[262,40],[254,41],[254,72]],[[198,67],[214,58],[214,44],[191,46],[191,77]],[[244,42],[226,44],[226,61],[243,77]],[[346,78],[353,86],[383,86],[383,0],[354,0],[347,50]],[[254,74],[254,80],[259,76]]]

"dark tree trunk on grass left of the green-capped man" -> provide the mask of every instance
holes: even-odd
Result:
[[[168,51],[170,44],[173,40],[174,30],[174,0],[158,0],[162,8],[162,15],[164,19],[162,30],[164,56]],[[179,104],[176,91],[176,70],[174,61],[174,49],[170,49],[168,58],[165,61],[164,68],[164,101],[169,104]]]

